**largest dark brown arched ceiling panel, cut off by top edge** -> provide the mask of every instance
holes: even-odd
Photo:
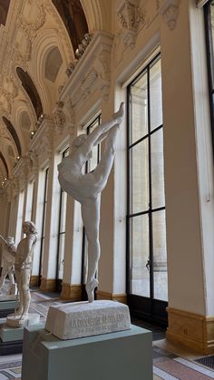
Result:
[[[52,0],[52,2],[61,15],[75,52],[84,34],[89,31],[81,2],[80,0]]]

